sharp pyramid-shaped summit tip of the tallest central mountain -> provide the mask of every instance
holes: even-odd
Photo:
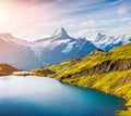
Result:
[[[66,29],[63,27],[61,27],[60,29],[57,29],[52,37],[62,37],[62,38],[69,38],[68,33],[66,31]]]

